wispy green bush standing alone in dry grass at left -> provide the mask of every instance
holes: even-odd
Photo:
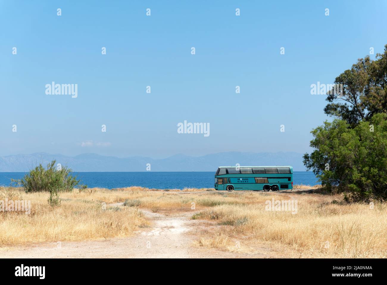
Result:
[[[22,179],[11,181],[24,187],[27,192],[50,192],[51,199],[54,199],[55,192],[71,191],[80,180],[71,175],[71,169],[66,166],[61,169],[55,167],[56,161],[53,160],[47,165],[47,169],[39,164],[36,168],[29,171]],[[54,197],[52,196],[54,194]]]

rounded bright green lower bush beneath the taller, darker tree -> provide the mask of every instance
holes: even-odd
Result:
[[[307,169],[328,191],[350,193],[353,201],[387,200],[387,114],[375,114],[351,128],[346,121],[325,122],[312,131]]]

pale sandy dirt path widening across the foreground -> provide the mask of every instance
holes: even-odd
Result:
[[[110,206],[120,206],[122,203]],[[171,216],[142,210],[153,225],[134,237],[110,240],[44,243],[0,249],[3,258],[235,258],[274,257],[269,248],[258,254],[223,252],[193,247],[196,234],[208,228],[204,221],[192,220],[191,213]]]

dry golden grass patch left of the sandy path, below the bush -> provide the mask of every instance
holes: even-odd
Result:
[[[0,188],[0,199],[5,199],[9,192]],[[131,235],[138,226],[148,225],[137,208],[106,206],[103,210],[103,194],[96,195],[98,191],[61,193],[58,207],[47,203],[48,193],[24,193],[21,189],[13,192],[19,194],[15,200],[31,200],[31,213],[0,212],[1,246],[121,237]]]

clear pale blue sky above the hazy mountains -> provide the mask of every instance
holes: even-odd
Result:
[[[386,8],[386,1],[1,1],[0,155],[309,152],[310,131],[329,119],[325,96],[311,95],[310,85],[333,83],[370,47],[383,51]],[[78,97],[46,95],[52,81],[77,84]],[[210,135],[179,134],[184,120],[209,123]]]

